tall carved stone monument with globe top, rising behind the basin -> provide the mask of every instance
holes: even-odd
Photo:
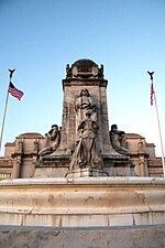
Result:
[[[110,139],[107,86],[103,65],[79,60],[66,66],[62,128],[47,132],[52,144],[40,152],[34,177],[135,175],[129,152]]]

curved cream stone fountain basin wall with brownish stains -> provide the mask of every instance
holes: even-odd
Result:
[[[0,181],[0,225],[138,226],[165,223],[165,180],[153,177]]]

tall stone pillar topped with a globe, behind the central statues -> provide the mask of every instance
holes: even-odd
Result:
[[[62,140],[59,149],[54,154],[72,154],[76,142],[75,100],[80,91],[88,89],[96,104],[98,130],[98,147],[101,154],[119,155],[111,145],[109,138],[109,121],[107,107],[107,85],[103,78],[103,67],[89,60],[79,60],[70,67],[67,65],[66,79],[63,80],[64,103],[62,120]]]

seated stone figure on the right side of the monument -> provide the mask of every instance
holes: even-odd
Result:
[[[127,148],[123,147],[124,141],[124,131],[118,130],[117,125],[111,126],[111,131],[110,131],[110,140],[112,143],[112,148],[123,154],[123,155],[130,155],[130,152]]]

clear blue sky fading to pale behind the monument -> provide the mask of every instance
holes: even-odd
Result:
[[[4,144],[24,132],[44,134],[62,126],[66,64],[89,58],[105,66],[109,127],[138,133],[162,155],[154,89],[165,147],[164,0],[0,0],[0,117],[9,85],[24,93],[9,96]]]

